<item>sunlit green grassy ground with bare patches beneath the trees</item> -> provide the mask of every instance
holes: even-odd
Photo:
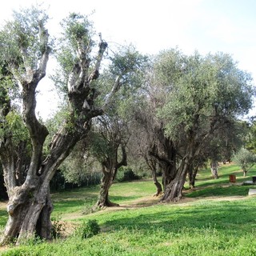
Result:
[[[236,183],[229,182],[230,174],[236,175]],[[256,255],[256,197],[247,195],[256,186],[242,186],[256,176],[256,169],[243,178],[238,166],[225,165],[219,175],[213,180],[210,170],[200,170],[196,188],[184,190],[182,202],[170,204],[152,196],[152,181],[117,183],[110,199],[120,207],[92,214],[83,213],[94,204],[98,186],[53,194],[53,216],[66,225],[66,232],[95,219],[101,233],[32,241],[2,250],[2,255]],[[0,225],[5,222],[0,208]]]

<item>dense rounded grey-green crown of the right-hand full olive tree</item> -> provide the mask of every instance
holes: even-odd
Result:
[[[230,55],[186,56],[177,50],[165,54],[162,58],[170,64],[162,66],[161,58],[156,64],[166,76],[170,74],[162,78],[162,71],[159,78],[168,94],[158,117],[166,120],[166,134],[171,138],[182,136],[182,131],[188,136],[192,130],[207,134],[216,129],[217,122],[220,126],[222,118],[231,119],[250,110],[254,95],[250,74],[239,70]]]

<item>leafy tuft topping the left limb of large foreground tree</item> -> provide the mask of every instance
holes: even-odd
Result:
[[[0,32],[1,56],[10,65],[17,65],[18,72],[22,72],[22,57],[19,49],[26,49],[26,65],[36,69],[39,65],[38,57],[45,49],[40,43],[38,24],[44,26],[48,20],[45,10],[38,6],[30,9],[14,11],[14,21],[6,22],[6,26]]]

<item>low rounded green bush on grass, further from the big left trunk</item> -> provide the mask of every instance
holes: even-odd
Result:
[[[98,234],[100,232],[100,227],[98,225],[98,222],[93,220],[88,220],[86,222],[82,222],[80,226],[75,230],[75,235],[79,238],[90,238],[94,236],[95,234]]]

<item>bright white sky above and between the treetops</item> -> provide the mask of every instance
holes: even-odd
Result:
[[[0,9],[0,26],[11,18],[12,10],[37,3],[42,1],[6,1]],[[110,48],[132,43],[142,54],[176,46],[184,54],[221,51],[231,54],[256,81],[256,0],[45,0],[43,6],[50,16],[50,34],[58,34],[62,18],[79,12],[90,15]],[[50,80],[44,79],[38,86],[38,111],[47,118],[58,99]]]

